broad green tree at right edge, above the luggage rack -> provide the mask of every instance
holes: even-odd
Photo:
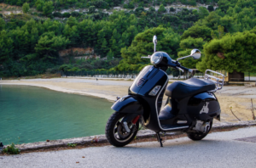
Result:
[[[196,64],[198,70],[228,72],[256,71],[256,34],[250,31],[226,35],[204,45],[205,56]]]

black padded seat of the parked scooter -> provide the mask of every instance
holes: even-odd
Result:
[[[181,99],[214,89],[215,83],[212,81],[190,78],[186,81],[173,82],[166,88],[166,96]]]

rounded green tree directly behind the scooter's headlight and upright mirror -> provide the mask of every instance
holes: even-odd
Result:
[[[129,48],[121,49],[123,59],[117,66],[117,70],[141,70],[145,64],[148,64],[148,59],[142,59],[141,57],[153,53],[154,44],[152,38],[154,35],[158,37],[157,51],[164,51],[172,59],[175,59],[177,57],[180,36],[172,31],[172,29],[155,27],[137,34]]]

